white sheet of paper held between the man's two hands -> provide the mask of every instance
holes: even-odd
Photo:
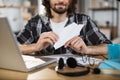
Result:
[[[58,41],[54,44],[54,48],[58,49],[63,46],[68,40],[80,34],[84,24],[72,23],[66,26],[60,33],[56,33],[59,36]]]

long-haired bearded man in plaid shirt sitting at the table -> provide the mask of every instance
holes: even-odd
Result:
[[[97,25],[84,14],[75,13],[77,0],[43,0],[46,15],[37,15],[17,36],[24,54],[61,54],[69,49],[72,53],[107,54],[107,44],[111,43]],[[69,40],[61,48],[54,50],[53,44],[59,39],[60,32],[71,23],[85,24],[79,36]]]

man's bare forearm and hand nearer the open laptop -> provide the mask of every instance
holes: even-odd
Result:
[[[36,51],[41,51],[49,45],[53,45],[57,40],[58,36],[54,32],[44,32],[40,35],[37,43],[20,44],[19,47],[23,54],[31,54]]]

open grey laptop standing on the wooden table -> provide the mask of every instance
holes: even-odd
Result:
[[[55,61],[55,58],[22,55],[7,18],[0,18],[0,68],[28,72]]]

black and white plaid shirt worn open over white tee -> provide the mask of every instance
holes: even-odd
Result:
[[[74,14],[72,16],[69,16],[65,26],[73,22],[77,24],[85,24],[79,36],[84,40],[86,45],[98,45],[102,43],[106,43],[106,44],[111,43],[111,41],[108,40],[106,36],[99,31],[97,25],[95,24],[94,21],[90,19],[89,16],[84,14]],[[25,29],[22,30],[17,35],[17,40],[21,44],[36,43],[37,40],[39,39],[40,34],[47,31],[52,31],[50,27],[50,18],[46,16],[37,15],[28,21],[28,24],[25,26]],[[69,49],[69,50],[72,53],[77,53],[72,49]],[[49,46],[48,48],[41,50],[40,54],[45,54],[45,53],[47,55],[61,54],[65,52],[66,52],[66,49],[64,47],[54,50],[52,46]]]

